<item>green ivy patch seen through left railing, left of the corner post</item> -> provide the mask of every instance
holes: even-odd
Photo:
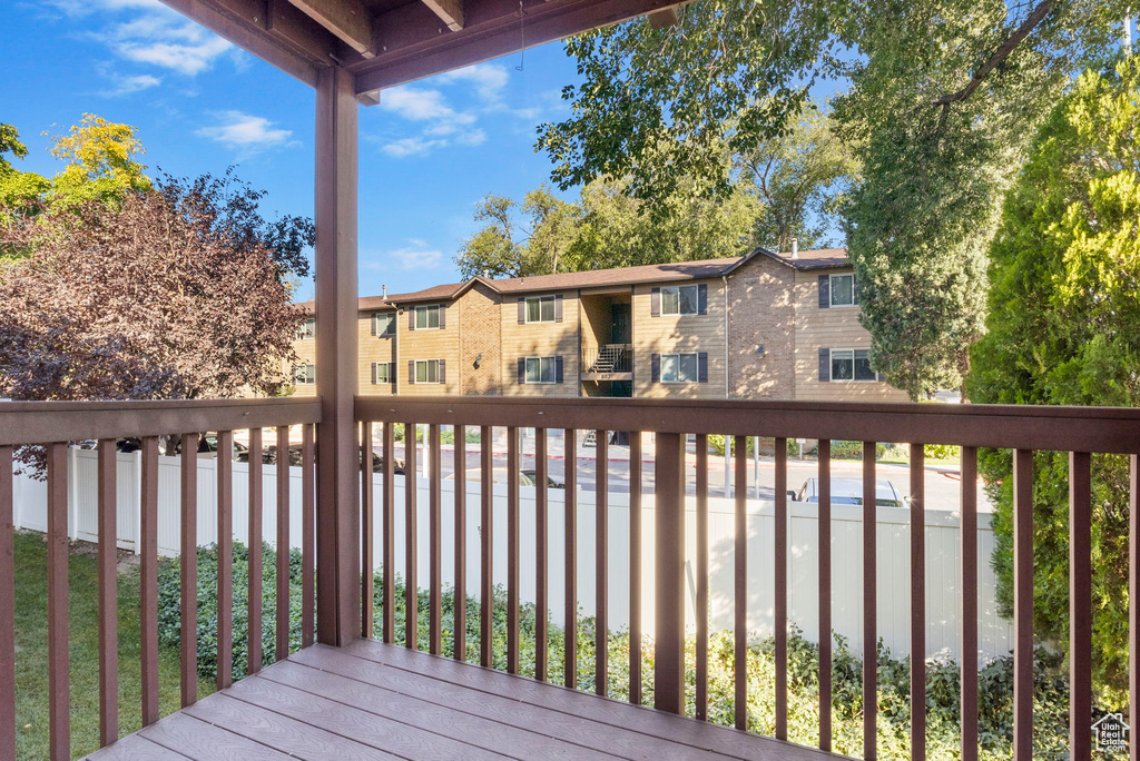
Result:
[[[198,673],[213,678],[218,672],[218,547],[198,548]],[[249,668],[250,551],[234,542],[234,678]],[[262,665],[274,662],[277,641],[277,553],[261,547],[261,653]],[[178,558],[158,563],[158,644],[181,643],[181,568]],[[301,647],[301,551],[290,553],[290,649]]]

